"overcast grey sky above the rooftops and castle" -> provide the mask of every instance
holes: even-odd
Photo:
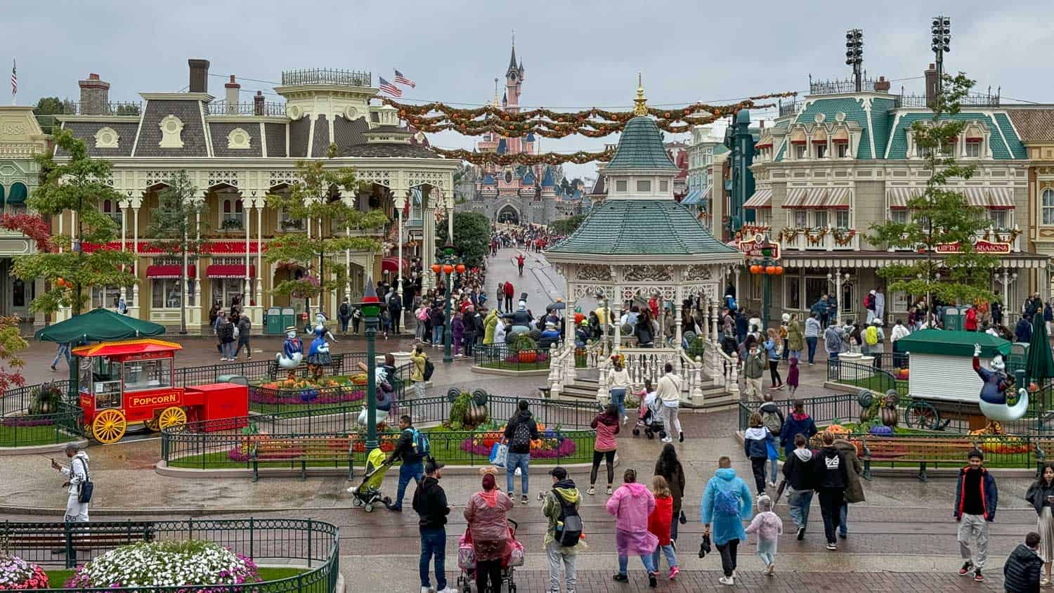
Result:
[[[13,3],[13,0],[8,0]],[[8,3],[5,1],[4,3]],[[1003,98],[1054,102],[1050,0],[956,2],[179,2],[18,3],[3,11],[0,60],[18,60],[19,103],[79,96],[90,72],[112,101],[187,85],[187,58],[213,74],[278,80],[282,70],[363,68],[417,82],[404,99],[483,103],[504,81],[515,29],[526,81],[522,103],[551,108],[631,105],[637,72],[650,104],[806,91],[808,74],[844,77],[844,32],[864,29],[864,66],[890,79],[919,77],[932,61],[930,17],[952,18],[950,72]],[[2,63],[2,62],[0,62]],[[2,72],[2,67],[0,67]],[[210,79],[221,97],[223,80]],[[267,83],[241,80],[243,97]],[[921,81],[894,82],[919,90]],[[275,99],[273,96],[269,100]],[[599,150],[608,140],[543,140],[553,151]],[[433,138],[468,147],[473,139]],[[588,174],[592,166],[569,166]]]

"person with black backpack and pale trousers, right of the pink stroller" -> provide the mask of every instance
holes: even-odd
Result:
[[[546,493],[542,503],[542,515],[549,523],[543,540],[549,558],[549,591],[560,591],[561,564],[564,565],[567,591],[574,591],[575,560],[582,539],[582,517],[579,516],[582,495],[564,468],[557,466],[549,475],[552,476],[552,490]]]

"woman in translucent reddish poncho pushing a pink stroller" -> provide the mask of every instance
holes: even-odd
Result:
[[[494,474],[483,475],[483,490],[468,499],[465,520],[472,534],[475,553],[475,589],[502,590],[502,558],[508,545],[509,525],[505,514],[512,509],[512,499],[497,489]]]

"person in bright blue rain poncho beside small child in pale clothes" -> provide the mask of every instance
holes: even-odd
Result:
[[[739,542],[746,539],[743,517],[752,514],[750,491],[746,482],[736,476],[731,459],[718,459],[718,471],[706,482],[700,505],[704,535],[710,535],[714,528],[714,545],[721,553],[721,570],[724,576],[721,585],[736,585],[736,550]]]

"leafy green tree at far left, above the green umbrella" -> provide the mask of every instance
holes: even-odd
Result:
[[[100,212],[104,200],[121,199],[106,180],[112,164],[87,155],[83,140],[69,130],[55,135],[55,145],[69,155],[57,162],[53,153],[35,157],[40,164],[40,185],[30,196],[27,205],[39,215],[57,217],[71,212],[74,216],[70,235],[39,236],[37,253],[15,257],[14,274],[24,282],[43,279],[47,290],[37,293],[30,311],[55,313],[61,307],[73,308],[74,315],[84,310],[93,286],[131,286],[135,254],[123,250],[100,249],[119,239],[117,224]],[[40,216],[24,215],[26,231],[45,224]],[[21,230],[21,229],[19,229]],[[32,236],[32,235],[31,235]],[[58,246],[65,246],[58,252]],[[60,281],[61,280],[61,281]]]

